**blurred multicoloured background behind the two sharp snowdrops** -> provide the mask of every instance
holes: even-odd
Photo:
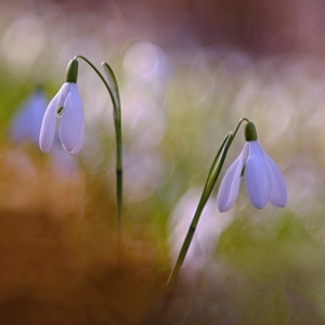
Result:
[[[0,15],[1,324],[325,324],[322,1],[4,0]],[[37,145],[78,54],[107,62],[120,87],[122,276],[112,104],[82,61],[81,153]],[[242,186],[220,213],[220,179],[156,317],[209,167],[243,117],[283,171],[287,207],[256,210]],[[240,129],[221,177],[244,141]]]

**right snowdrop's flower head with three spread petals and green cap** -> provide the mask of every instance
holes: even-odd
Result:
[[[268,156],[257,141],[257,131],[252,122],[245,128],[246,143],[239,157],[224,174],[218,193],[218,207],[227,211],[237,197],[240,179],[246,182],[250,203],[262,209],[268,202],[285,207],[287,191],[284,178],[276,164]]]

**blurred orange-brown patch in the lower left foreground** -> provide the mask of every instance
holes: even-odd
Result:
[[[147,230],[126,223],[118,258],[114,203],[101,182],[55,177],[32,154],[1,152],[0,323],[143,324],[167,276]]]

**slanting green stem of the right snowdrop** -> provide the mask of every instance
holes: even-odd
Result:
[[[169,295],[173,284],[174,284],[174,281],[178,278],[178,275],[179,275],[179,272],[182,268],[182,264],[184,262],[184,259],[186,257],[186,253],[188,251],[188,248],[190,248],[190,245],[192,243],[192,239],[193,239],[193,236],[194,236],[194,233],[196,231],[196,227],[197,227],[197,224],[198,224],[198,221],[199,221],[199,218],[200,218],[200,214],[205,208],[205,205],[214,187],[214,184],[218,180],[218,177],[220,174],[220,171],[222,169],[222,166],[223,166],[223,162],[224,162],[224,159],[226,157],[226,154],[227,154],[227,151],[242,125],[243,121],[246,121],[246,122],[249,122],[249,120],[247,118],[243,118],[239,120],[236,129],[234,132],[230,132],[223,143],[221,144],[217,155],[216,155],[216,158],[212,162],[212,166],[211,166],[211,169],[209,171],[209,174],[208,174],[208,178],[207,178],[207,181],[206,181],[206,184],[205,184],[205,187],[204,187],[204,191],[203,191],[203,194],[200,196],[200,199],[199,199],[199,203],[198,203],[198,206],[196,208],[196,211],[195,211],[195,214],[193,217],[193,220],[192,220],[192,223],[188,227],[188,231],[187,231],[187,234],[185,236],[185,239],[183,242],[183,246],[181,248],[181,251],[178,256],[178,259],[176,261],[176,264],[170,273],[170,276],[168,278],[168,282],[167,282],[167,285],[166,285],[166,295]]]

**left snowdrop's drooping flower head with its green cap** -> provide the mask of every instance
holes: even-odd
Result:
[[[83,143],[83,108],[77,86],[78,61],[72,60],[67,66],[66,82],[50,102],[43,117],[39,145],[49,153],[54,141],[56,120],[60,118],[58,135],[63,147],[77,155]]]

